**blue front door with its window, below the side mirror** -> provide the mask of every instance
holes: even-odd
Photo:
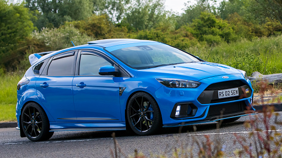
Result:
[[[118,66],[99,52],[81,51],[72,82],[73,100],[78,122],[121,121],[119,77],[99,75],[99,68]]]

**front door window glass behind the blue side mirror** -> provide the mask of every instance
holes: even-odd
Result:
[[[99,75],[99,68],[112,63],[97,55],[81,54],[79,75]]]

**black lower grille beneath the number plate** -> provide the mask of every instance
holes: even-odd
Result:
[[[240,113],[244,112],[244,110],[246,110],[246,104],[244,102],[214,105],[210,106],[207,118]]]

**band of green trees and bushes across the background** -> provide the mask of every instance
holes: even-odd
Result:
[[[70,47],[71,40],[78,45],[135,38],[188,49],[253,41],[282,31],[282,0],[199,0],[188,3],[183,14],[166,11],[165,0],[7,1],[0,0],[1,71],[26,65],[20,61],[24,55]]]

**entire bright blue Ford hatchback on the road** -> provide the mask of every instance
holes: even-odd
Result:
[[[73,130],[151,135],[255,113],[246,72],[161,42],[97,40],[29,59],[16,117],[20,136],[31,141]]]

